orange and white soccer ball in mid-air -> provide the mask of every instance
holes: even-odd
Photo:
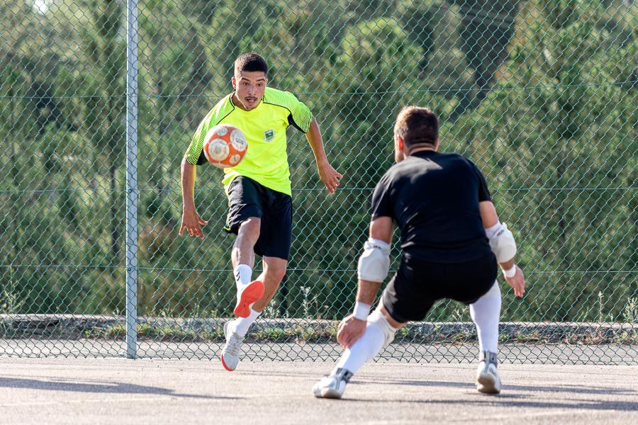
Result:
[[[230,124],[218,124],[208,130],[203,152],[208,162],[225,169],[236,166],[244,159],[248,142],[242,130]]]

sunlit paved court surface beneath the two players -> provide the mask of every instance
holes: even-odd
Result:
[[[372,363],[315,399],[332,364],[0,357],[0,424],[638,424],[638,366],[502,364],[489,396],[471,364]]]

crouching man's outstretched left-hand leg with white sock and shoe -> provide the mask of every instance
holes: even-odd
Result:
[[[380,303],[368,316],[366,331],[361,338],[346,348],[332,373],[315,384],[315,397],[341,398],[352,375],[390,344],[396,330],[404,324],[393,319]]]

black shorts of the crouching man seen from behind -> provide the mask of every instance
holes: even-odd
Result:
[[[384,307],[397,322],[422,320],[436,300],[449,298],[471,304],[496,281],[492,253],[466,263],[431,263],[401,259],[401,265],[382,296]]]

